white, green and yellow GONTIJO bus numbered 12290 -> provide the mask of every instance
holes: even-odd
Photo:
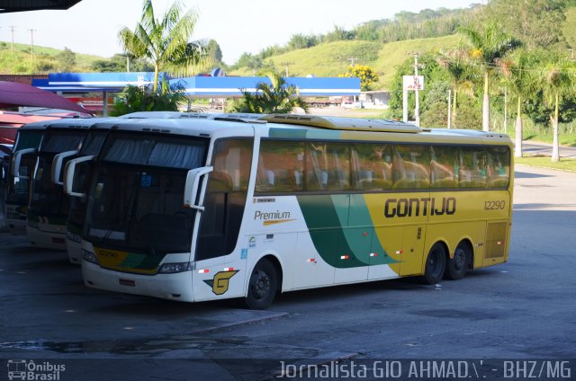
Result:
[[[505,135],[388,120],[122,122],[87,191],[85,285],[266,308],[297,289],[461,279],[508,260],[510,152]]]

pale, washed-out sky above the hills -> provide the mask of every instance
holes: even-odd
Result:
[[[173,0],[152,0],[160,17]],[[257,54],[272,45],[284,45],[297,33],[324,34],[335,26],[351,30],[370,20],[392,18],[395,13],[422,9],[468,8],[482,0],[184,0],[198,13],[192,40],[213,39],[223,61],[235,63],[244,52]],[[76,53],[112,57],[121,53],[117,33],[139,21],[142,0],[82,0],[66,11],[0,14],[0,40]]]

